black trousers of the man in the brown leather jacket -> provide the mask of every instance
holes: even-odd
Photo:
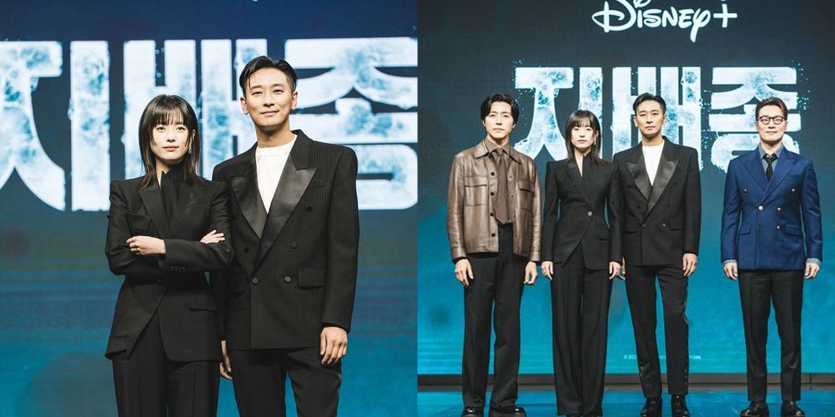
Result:
[[[516,404],[519,393],[519,304],[528,260],[513,253],[513,228],[498,228],[498,254],[468,254],[473,279],[464,289],[464,406],[484,406],[490,362],[490,321],[496,332],[491,407]],[[493,308],[495,304],[495,308]],[[491,314],[492,313],[492,314]]]

